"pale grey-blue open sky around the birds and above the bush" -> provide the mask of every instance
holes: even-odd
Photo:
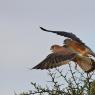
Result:
[[[95,0],[0,0],[1,95],[28,91],[31,81],[47,81],[46,70],[29,68],[50,53],[52,44],[62,45],[64,37],[40,26],[72,32],[95,51]]]

